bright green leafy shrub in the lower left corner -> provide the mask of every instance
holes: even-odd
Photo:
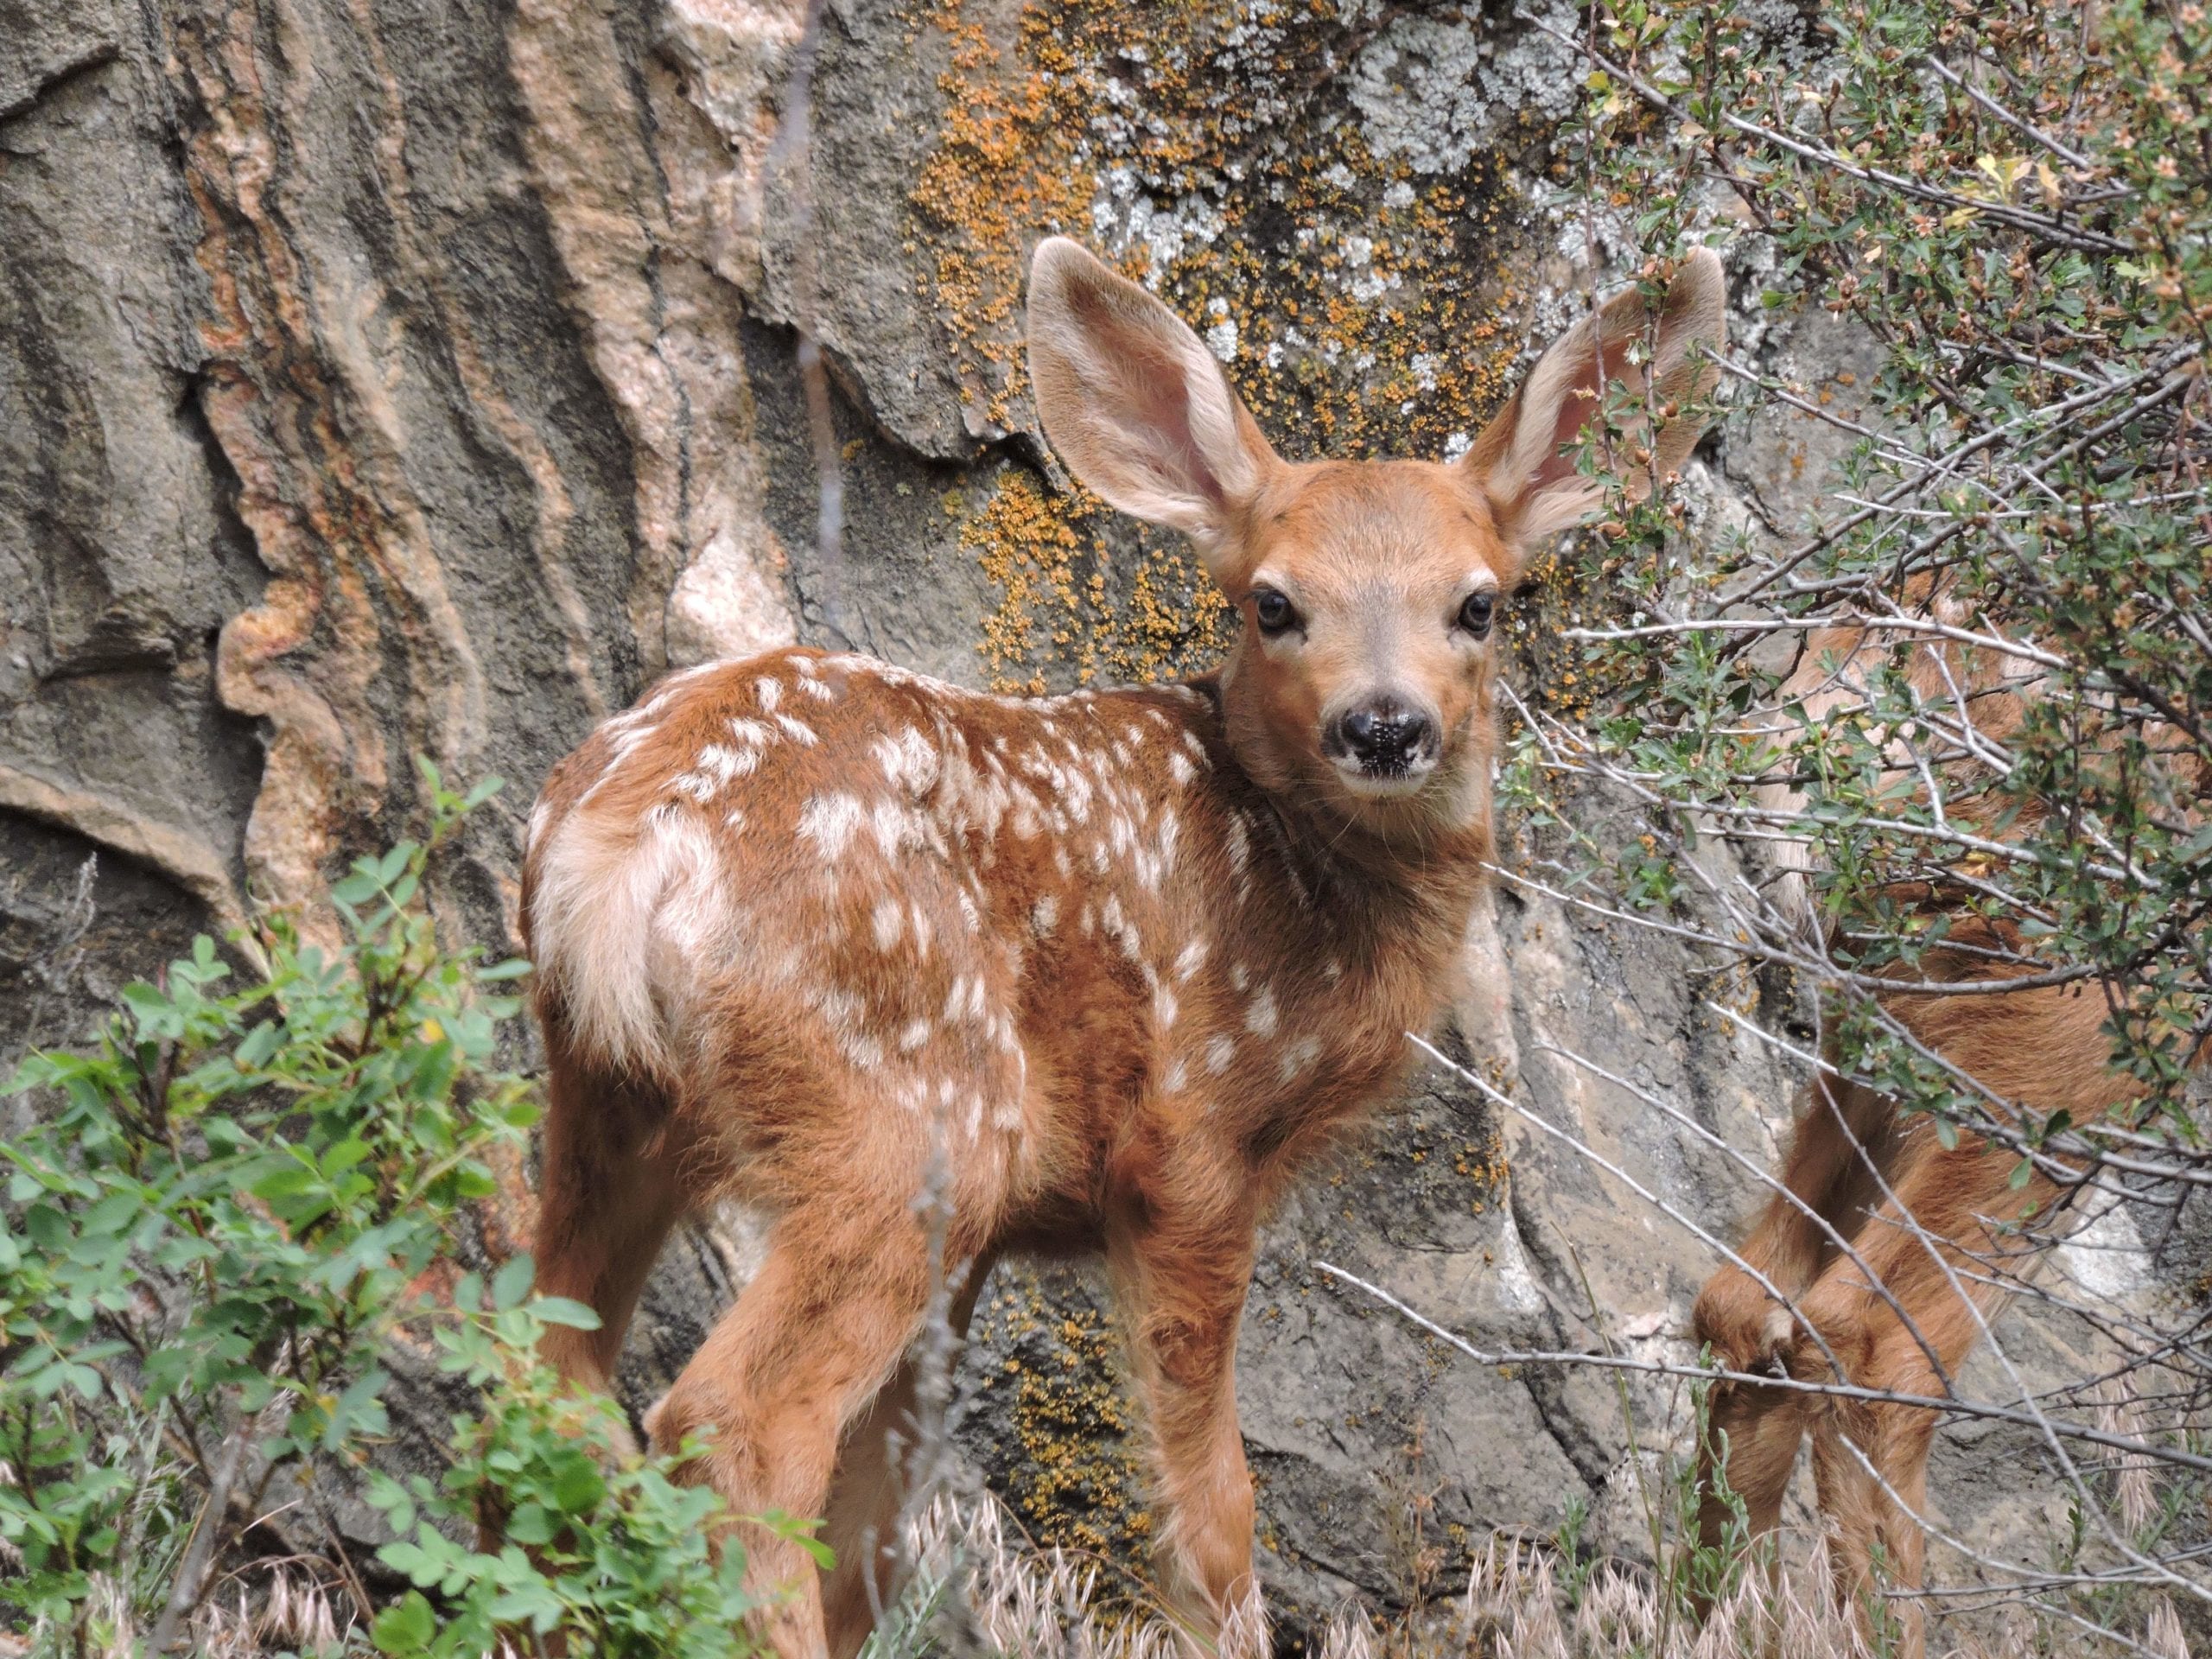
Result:
[[[498,1066],[524,964],[445,949],[422,902],[498,783],[425,781],[429,836],[332,887],[332,949],[270,918],[241,980],[201,938],[95,1046],[11,1084],[33,1121],[0,1146],[0,1617],[42,1650],[197,1644],[217,1586],[265,1604],[303,1568],[354,1604],[325,1641],[361,1648],[378,1566],[416,1586],[374,1617],[385,1652],[752,1650],[712,1493],[586,1451],[622,1442],[615,1407],[535,1363],[546,1323],[591,1310],[533,1298],[526,1256],[436,1294],[538,1108]],[[380,1467],[396,1340],[484,1396],[436,1480]],[[283,1526],[332,1484],[389,1522],[378,1564]],[[467,1542],[482,1515],[507,1517],[493,1553]]]

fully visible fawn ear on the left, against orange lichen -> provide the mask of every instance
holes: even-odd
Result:
[[[1124,513],[1188,535],[1223,575],[1219,555],[1281,462],[1199,336],[1048,237],[1029,265],[1029,378],[1068,469]]]

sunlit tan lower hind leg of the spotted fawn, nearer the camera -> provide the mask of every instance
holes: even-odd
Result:
[[[843,1429],[891,1380],[927,1298],[927,1245],[907,1203],[821,1194],[776,1223],[761,1272],[655,1407],[655,1451],[703,1436],[688,1478],[712,1484],[739,1524],[821,1517]],[[752,1588],[787,1593],[768,1617],[776,1652],[818,1659],[812,1557],[770,1528],[743,1533]]]

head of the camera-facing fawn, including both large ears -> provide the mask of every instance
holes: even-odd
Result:
[[[1237,606],[1221,686],[1245,770],[1336,816],[1420,830],[1486,810],[1498,611],[1528,555],[1601,500],[1562,445],[1615,380],[1650,387],[1650,405],[1710,389],[1692,347],[1719,352],[1723,299],[1721,261],[1699,250],[1657,314],[1637,292],[1604,305],[1451,465],[1281,460],[1197,334],[1064,237],[1031,265],[1029,365],[1075,476],[1188,535]],[[1650,440],[1630,420],[1624,473],[1672,473],[1701,429],[1663,420]]]

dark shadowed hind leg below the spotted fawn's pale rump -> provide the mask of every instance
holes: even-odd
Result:
[[[686,1197],[672,1110],[650,1084],[582,1064],[546,1020],[546,1119],[538,1199],[538,1290],[599,1316],[553,1325],[540,1352],[568,1383],[611,1394],[622,1334]]]

